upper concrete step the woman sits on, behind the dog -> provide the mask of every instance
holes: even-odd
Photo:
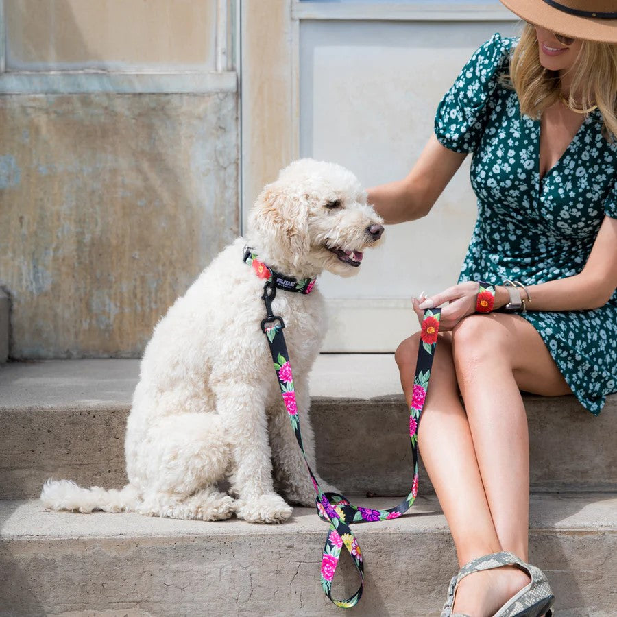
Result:
[[[136,360],[1,365],[0,495],[38,496],[51,476],[123,485],[125,420],[137,376]],[[311,394],[324,479],[346,493],[407,494],[409,422],[393,356],[322,354]],[[616,395],[598,418],[572,396],[527,396],[525,404],[533,490],[617,490]],[[420,479],[420,493],[430,492],[424,470]]]

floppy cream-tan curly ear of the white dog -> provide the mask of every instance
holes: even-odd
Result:
[[[289,184],[267,184],[251,210],[252,235],[268,247],[271,254],[300,265],[309,254],[309,200]]]

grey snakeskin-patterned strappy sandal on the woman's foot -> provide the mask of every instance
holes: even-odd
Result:
[[[514,594],[494,614],[494,617],[540,617],[544,614],[546,614],[546,617],[552,617],[555,596],[544,572],[531,564],[525,564],[516,555],[507,551],[484,555],[483,557],[478,557],[478,559],[472,559],[468,564],[465,564],[456,577],[454,588],[452,588],[452,581],[450,581],[448,599],[446,600],[446,605],[444,605],[444,612],[441,613],[441,617],[466,617],[462,613],[452,613],[452,606],[454,605],[459,582],[473,572],[492,570],[492,568],[501,568],[502,566],[518,566],[518,568],[529,574],[531,583]],[[450,590],[452,590],[451,595]]]

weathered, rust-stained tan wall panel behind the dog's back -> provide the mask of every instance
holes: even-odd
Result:
[[[14,358],[138,356],[239,232],[237,95],[0,97]]]

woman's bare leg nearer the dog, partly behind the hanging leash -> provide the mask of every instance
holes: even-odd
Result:
[[[396,350],[408,404],[412,399],[419,339],[418,335],[410,337]],[[440,335],[437,342],[418,437],[422,461],[448,520],[459,564],[462,566],[481,555],[503,550],[485,495],[470,427],[459,399],[450,333]],[[474,616],[493,614],[529,581],[527,574],[516,568],[500,568],[498,574],[495,572],[472,575],[481,577],[481,581],[463,594],[461,609],[464,607]],[[457,592],[457,602],[459,594]]]

